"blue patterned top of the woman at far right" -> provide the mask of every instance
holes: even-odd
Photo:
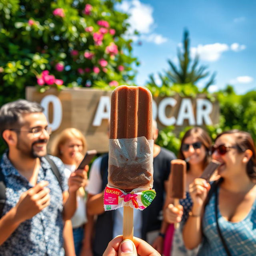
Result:
[[[219,193],[219,188],[217,190]],[[204,240],[198,256],[226,256],[218,235],[215,218],[215,193],[206,206],[203,218]],[[218,223],[222,236],[232,256],[256,255],[256,200],[249,214],[240,222],[225,220],[218,210]]]

